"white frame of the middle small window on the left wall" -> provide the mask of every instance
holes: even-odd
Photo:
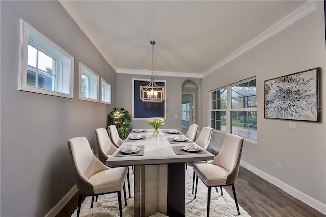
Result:
[[[84,73],[84,70],[86,70],[86,73]],[[96,98],[91,97],[84,97],[83,96],[83,75],[88,74],[90,78],[89,82],[89,92],[92,96],[96,96]],[[84,75],[85,76],[85,75]],[[94,87],[94,84],[96,84],[96,87]],[[88,68],[86,65],[84,65],[82,62],[79,62],[79,99],[86,100],[90,102],[98,102],[98,88],[99,88],[99,75],[96,74],[93,70]],[[96,94],[93,93],[96,90]]]

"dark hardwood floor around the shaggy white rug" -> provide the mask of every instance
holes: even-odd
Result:
[[[231,195],[232,188],[224,187]],[[235,182],[235,191],[240,206],[252,217],[256,216],[326,216],[270,184],[249,170],[240,167]],[[57,216],[71,216],[78,205],[78,193],[66,204]]]

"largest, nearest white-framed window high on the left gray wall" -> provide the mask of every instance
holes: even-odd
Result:
[[[74,58],[21,20],[18,89],[73,98]]]

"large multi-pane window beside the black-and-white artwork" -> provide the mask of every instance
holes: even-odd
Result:
[[[212,128],[257,140],[256,79],[211,92]]]

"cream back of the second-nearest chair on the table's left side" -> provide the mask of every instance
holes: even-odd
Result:
[[[98,128],[95,130],[95,133],[98,144],[98,157],[106,165],[106,160],[110,157],[109,155],[112,155],[118,148],[112,144],[106,129]]]

